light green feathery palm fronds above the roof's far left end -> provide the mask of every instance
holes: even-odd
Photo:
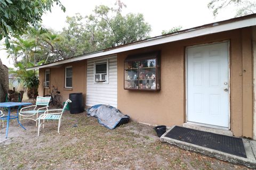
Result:
[[[11,57],[14,64],[46,61],[58,61],[64,57],[61,50],[56,49],[54,43],[60,36],[42,27],[30,28],[27,35],[11,40],[12,48],[6,48],[7,57]]]

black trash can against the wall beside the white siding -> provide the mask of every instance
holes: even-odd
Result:
[[[84,112],[84,100],[82,92],[69,94],[69,99],[72,101],[72,103],[69,103],[71,114]]]

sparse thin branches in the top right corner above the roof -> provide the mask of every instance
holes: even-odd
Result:
[[[256,13],[256,3],[253,0],[211,0],[208,4],[208,8],[212,10],[214,16],[217,16],[220,10],[230,5],[237,6],[235,16],[243,16]]]

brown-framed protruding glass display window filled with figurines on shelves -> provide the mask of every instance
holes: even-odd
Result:
[[[124,89],[160,90],[160,53],[128,56],[124,61]]]

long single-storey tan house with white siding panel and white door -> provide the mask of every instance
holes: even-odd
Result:
[[[256,14],[31,67],[39,95],[83,92],[134,120],[192,123],[256,139]],[[253,64],[254,63],[254,64]],[[254,108],[255,107],[255,108]]]

